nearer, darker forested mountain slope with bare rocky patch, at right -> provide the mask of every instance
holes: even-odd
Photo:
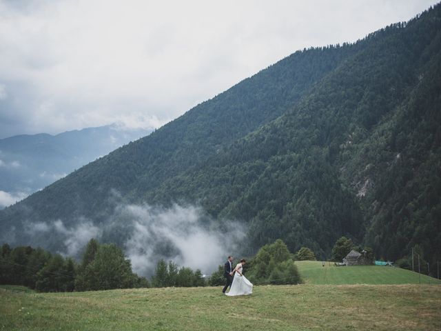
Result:
[[[431,173],[423,172],[426,180],[418,172],[415,179],[409,177],[420,186],[414,192],[422,194],[420,200],[425,199],[427,180],[433,185],[433,205],[420,201],[413,212],[440,205],[440,167],[436,166],[441,123],[439,8],[438,17],[436,12],[430,14],[406,28],[396,25],[372,35],[369,48],[324,77],[289,112],[238,140],[196,172],[168,179],[147,200],[165,203],[170,194],[174,199],[191,197],[216,215],[249,220],[249,235],[256,245],[282,238],[291,250],[308,245],[320,256],[345,234],[365,239],[390,259],[403,251],[408,254],[416,243],[433,257],[441,247],[435,215],[431,230],[426,216],[415,214],[411,218],[421,224],[405,225],[407,229],[402,230],[409,221],[400,218],[389,223],[390,219],[381,217],[384,211],[377,214],[376,210],[379,203],[387,203],[384,209],[392,210],[395,203],[387,199],[410,203],[402,196],[402,187],[394,187],[402,174],[391,167],[407,143],[408,150],[420,155],[413,165],[404,167],[408,177],[414,167],[433,165]],[[429,99],[415,103],[413,98],[421,93]],[[417,128],[404,119],[418,124]],[[400,132],[403,129],[406,132]],[[394,147],[391,133],[404,133],[415,141]],[[416,144],[422,138],[425,146]],[[399,183],[407,185],[402,179]],[[421,233],[412,233],[418,228],[418,232],[427,229],[425,243]]]

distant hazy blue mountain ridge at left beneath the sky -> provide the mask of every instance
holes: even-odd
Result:
[[[0,139],[0,190],[19,197],[28,195],[150,132],[152,129],[112,124]]]

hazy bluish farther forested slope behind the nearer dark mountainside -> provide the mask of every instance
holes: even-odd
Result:
[[[97,217],[101,210],[112,208],[106,199],[112,189],[134,201],[164,179],[205,161],[219,148],[280,116],[358,47],[296,52],[201,103],[150,136],[70,174],[43,194],[28,197],[8,212],[23,219],[27,216],[19,216],[21,207],[25,205],[25,210],[30,211],[38,205],[32,211],[36,220],[79,214]],[[57,201],[58,197],[69,202]],[[100,199],[96,201],[96,197]]]

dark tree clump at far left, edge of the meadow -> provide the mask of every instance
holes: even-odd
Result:
[[[132,263],[113,243],[91,239],[83,259],[52,254],[42,248],[7,243],[0,249],[0,283],[24,285],[39,292],[72,292],[148,287],[145,277],[132,272]]]

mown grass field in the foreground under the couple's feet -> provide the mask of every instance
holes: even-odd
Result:
[[[439,285],[267,285],[29,293],[0,288],[1,330],[441,330]]]

